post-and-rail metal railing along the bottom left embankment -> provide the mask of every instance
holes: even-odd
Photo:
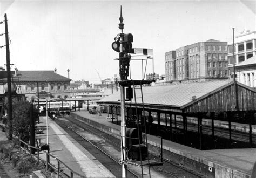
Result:
[[[24,150],[24,153],[26,153],[27,151],[30,153],[30,156],[32,156],[31,153],[31,149],[36,149],[37,150],[37,161],[41,160],[39,158],[39,152],[41,151],[40,148],[38,147],[34,147],[29,145],[28,143],[24,142],[23,140],[18,139],[19,142],[22,142],[24,144],[24,148],[21,147],[21,149]],[[28,150],[28,148],[30,148],[30,151]],[[49,150],[48,150],[49,152]],[[60,177],[60,174],[64,177],[73,177],[73,175],[77,175],[79,177],[84,177],[83,175],[75,172],[74,170],[72,170],[68,165],[66,165],[64,162],[62,162],[61,160],[59,160],[58,158],[56,158],[55,156],[51,155],[50,153],[46,152],[46,150],[44,150],[44,153],[46,154],[46,170],[49,169],[49,166],[54,170],[55,173],[57,173],[57,177]],[[34,155],[33,155],[34,156]],[[57,161],[57,168],[55,167],[55,165],[50,163],[50,157],[52,157],[53,159],[55,159]],[[70,176],[67,175],[66,173],[63,172],[63,170],[60,170],[60,163],[62,163],[62,165],[64,165],[66,168],[69,169],[70,171]]]

